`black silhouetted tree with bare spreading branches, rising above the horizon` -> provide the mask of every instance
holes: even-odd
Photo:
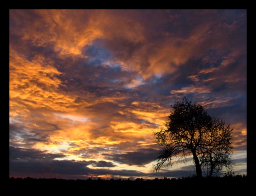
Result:
[[[197,177],[202,177],[202,168],[207,169],[208,176],[221,172],[223,167],[231,171],[233,129],[186,98],[171,107],[165,128],[155,133],[162,147],[155,170],[159,171],[165,163],[172,165],[173,157],[186,158],[191,154]]]

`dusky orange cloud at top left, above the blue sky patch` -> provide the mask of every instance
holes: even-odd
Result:
[[[88,17],[84,11],[77,10],[31,10],[37,20],[29,20],[26,12],[11,11],[15,20],[22,17],[25,27],[17,32],[23,40],[30,40],[35,46],[54,44],[54,50],[61,55],[82,55],[81,49],[90,45],[101,32],[94,28],[93,21],[81,25],[80,19]],[[78,19],[78,20],[77,20]]]

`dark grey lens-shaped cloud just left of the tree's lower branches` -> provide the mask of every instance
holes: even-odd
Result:
[[[128,165],[146,165],[156,160],[159,151],[155,149],[138,149],[136,152],[126,152],[125,154],[107,155],[110,160]]]

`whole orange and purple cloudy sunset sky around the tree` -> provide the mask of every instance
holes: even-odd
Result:
[[[10,10],[10,177],[161,178],[184,96],[234,128],[246,174],[246,10]],[[188,160],[191,158],[188,157]]]

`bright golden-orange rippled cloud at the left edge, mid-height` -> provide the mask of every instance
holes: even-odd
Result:
[[[18,108],[13,108],[14,105],[55,111],[74,110],[69,106],[77,105],[74,103],[75,97],[67,96],[59,91],[58,87],[62,84],[58,75],[61,73],[52,64],[46,64],[43,57],[28,61],[14,50],[10,53],[11,111],[17,111]]]

